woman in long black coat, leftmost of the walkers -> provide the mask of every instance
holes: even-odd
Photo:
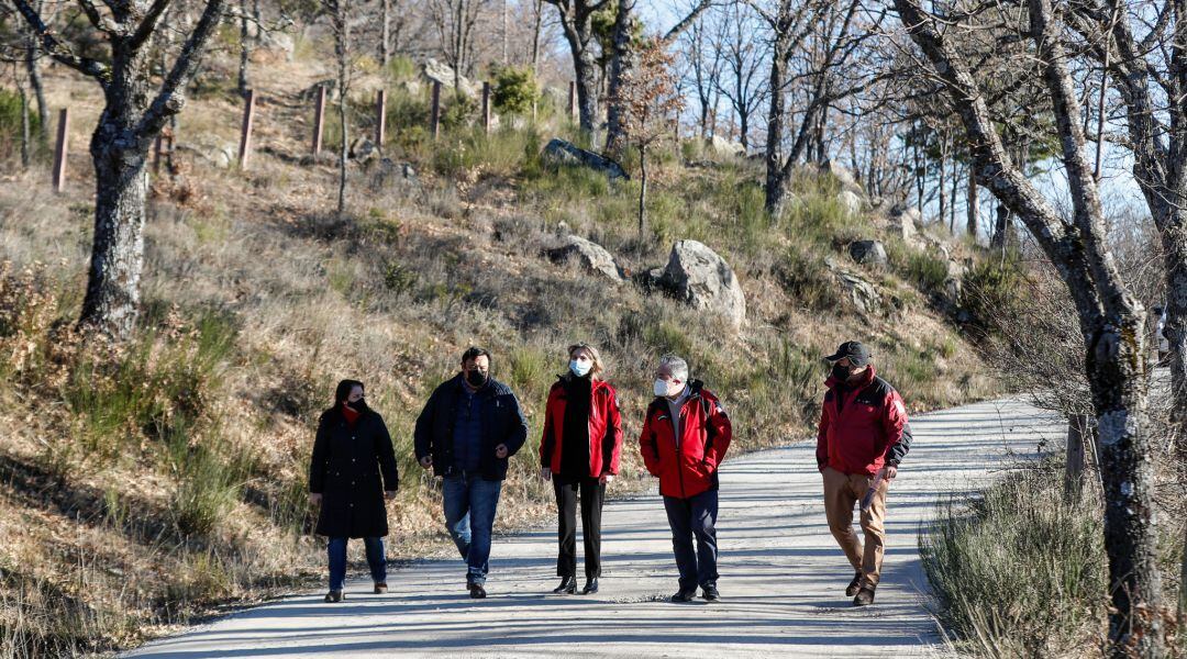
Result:
[[[343,599],[348,538],[363,538],[375,594],[387,593],[385,499],[395,497],[400,479],[392,437],[383,417],[367,407],[363,383],[338,383],[334,407],[322,414],[317,424],[310,462],[309,500],[322,505],[317,533],[330,538],[330,591],[325,601]]]

